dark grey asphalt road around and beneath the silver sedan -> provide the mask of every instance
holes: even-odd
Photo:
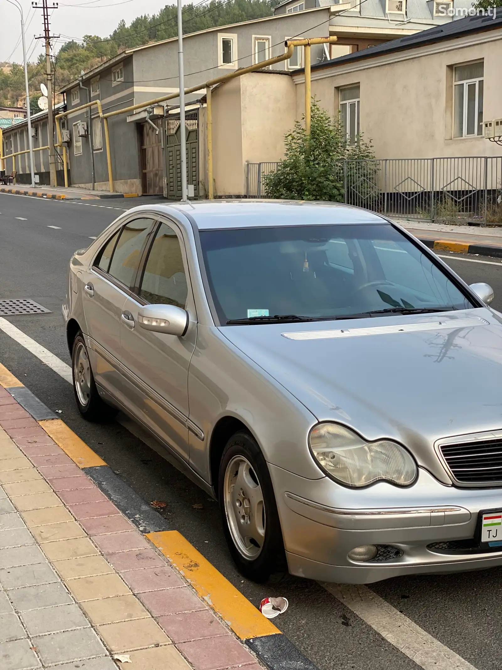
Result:
[[[50,314],[15,316],[9,321],[70,364],[61,316],[68,260],[75,249],[86,247],[91,237],[125,209],[145,202],[154,200],[64,202],[0,194],[0,298],[30,297],[51,310]],[[467,283],[490,283],[495,289],[493,306],[502,310],[500,261],[444,256]],[[373,610],[367,608],[375,616],[363,614],[363,618],[315,582],[288,576],[274,583],[252,584],[236,572],[226,551],[216,502],[149,448],[145,442],[151,440],[144,435],[145,442],[140,439],[137,427],[120,416],[119,422],[86,423],[76,410],[70,384],[1,330],[0,362],[48,407],[60,411],[62,419],[145,500],[165,502],[164,514],[172,527],[256,606],[264,596],[288,598],[287,612],[274,622],[320,670],[502,667],[497,632],[502,626],[502,612],[497,606],[502,568],[373,584],[364,590],[365,594],[377,594],[383,600],[377,598]],[[194,505],[203,508],[195,509]],[[381,634],[384,612],[390,612],[390,625],[395,626],[390,633],[397,646]],[[400,613],[407,618],[400,618]],[[408,626],[408,620],[420,628]],[[398,649],[406,651],[412,645],[416,630],[420,635],[423,631],[428,634],[424,633],[420,643],[424,654],[417,657],[417,662]],[[433,659],[438,643],[446,647],[446,655]]]

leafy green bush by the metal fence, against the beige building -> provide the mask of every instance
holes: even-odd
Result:
[[[305,135],[303,123],[296,121],[284,144],[284,160],[276,172],[263,177],[270,198],[343,202],[343,159],[374,157],[371,142],[361,136],[355,145],[349,145],[339,119],[331,119],[315,98],[310,137]]]

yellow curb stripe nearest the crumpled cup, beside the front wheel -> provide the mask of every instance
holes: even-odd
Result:
[[[147,533],[146,537],[189,580],[199,598],[218,612],[240,639],[280,633],[181,533],[161,531]]]

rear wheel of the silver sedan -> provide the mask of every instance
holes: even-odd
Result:
[[[76,334],[72,345],[73,390],[78,411],[88,421],[102,421],[114,415],[114,410],[99,396],[89,355],[82,332]]]

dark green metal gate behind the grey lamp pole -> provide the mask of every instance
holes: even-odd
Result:
[[[187,184],[189,196],[199,196],[199,113],[189,112],[185,116],[185,137],[187,141]],[[179,117],[166,121],[166,178],[164,196],[169,200],[181,198],[181,127]]]

